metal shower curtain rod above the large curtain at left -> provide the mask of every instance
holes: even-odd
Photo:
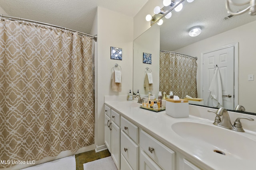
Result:
[[[1,14],[0,16],[1,16],[2,18],[6,18],[6,19],[8,19],[8,20],[14,20],[14,21],[23,20],[23,21],[26,21],[26,22],[31,22],[31,23],[46,25],[46,26],[50,26],[50,27],[56,27],[56,28],[60,28],[60,29],[65,29],[65,30],[68,30],[68,31],[71,31],[71,32],[77,32],[78,35],[86,35],[86,36],[91,37],[92,39],[94,39],[94,41],[97,41],[97,35],[90,35],[90,34],[87,34],[87,33],[79,32],[79,31],[74,31],[73,29],[68,29],[68,28],[64,28],[64,27],[60,27],[60,26],[57,26],[57,25],[52,25],[52,24],[44,23],[44,22],[38,22],[38,21],[33,21],[33,20],[27,20],[27,19],[24,19],[24,18],[18,18],[18,17],[13,17],[13,16],[6,16],[6,15],[3,15],[3,14]]]

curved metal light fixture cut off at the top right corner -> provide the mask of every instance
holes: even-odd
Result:
[[[246,5],[246,4],[250,4],[250,5],[247,8],[245,8],[244,10],[242,10],[242,11],[233,12],[230,9],[230,5],[229,4],[233,4],[234,6],[243,6],[243,5]],[[256,0],[249,0],[249,1],[241,3],[241,4],[238,4],[238,3],[234,2],[234,0],[226,0],[226,10],[228,11],[229,14],[231,14],[233,16],[244,14],[247,11],[249,11],[249,14],[251,16],[254,16],[254,15],[256,15]]]

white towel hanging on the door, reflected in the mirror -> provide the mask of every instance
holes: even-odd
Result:
[[[212,82],[209,87],[210,96],[208,98],[208,104],[212,107],[223,107],[222,100],[222,83],[220,78],[219,68],[216,67]]]

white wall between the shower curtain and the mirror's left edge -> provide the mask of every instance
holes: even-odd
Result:
[[[98,54],[96,56],[96,147],[104,145],[104,96],[132,90],[133,18],[98,7]],[[110,47],[122,48],[122,60],[110,59]],[[112,92],[114,64],[122,67],[122,92]]]

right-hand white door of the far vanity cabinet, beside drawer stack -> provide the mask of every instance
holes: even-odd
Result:
[[[111,156],[116,164],[118,170],[120,170],[120,127],[116,123],[112,122],[111,129]]]

